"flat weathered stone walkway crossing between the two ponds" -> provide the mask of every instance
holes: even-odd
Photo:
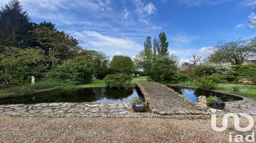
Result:
[[[137,83],[152,113],[160,115],[209,115],[210,112],[195,102],[153,82]]]

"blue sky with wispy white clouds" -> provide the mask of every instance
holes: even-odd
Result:
[[[4,6],[8,0],[0,0]],[[147,36],[165,32],[182,62],[207,56],[218,41],[249,39],[256,0],[20,0],[31,20],[56,23],[91,49],[134,57]]]

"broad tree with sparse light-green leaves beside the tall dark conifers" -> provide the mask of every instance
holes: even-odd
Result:
[[[51,22],[40,23],[34,30],[30,31],[33,40],[39,44],[39,47],[49,55],[52,68],[54,68],[62,60],[67,60],[79,51],[81,51],[80,40],[73,36],[59,31]]]

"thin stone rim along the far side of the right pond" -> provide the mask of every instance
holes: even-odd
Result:
[[[188,86],[188,85],[180,85],[180,84],[165,84],[165,85],[168,86],[168,87],[173,86],[173,87],[184,87],[184,88],[195,89],[194,86]],[[208,92],[213,92],[213,93],[219,93],[219,94],[223,94],[223,95],[228,95],[228,96],[239,98],[239,99],[242,99],[242,100],[248,100],[248,99],[249,100],[253,100],[253,98],[245,97],[245,96],[234,94],[234,93],[226,93],[226,92],[221,92],[221,91],[213,91],[213,90],[202,89],[202,88],[196,88],[196,89],[204,90],[204,91],[208,91]],[[230,101],[230,102],[233,102],[233,101]]]

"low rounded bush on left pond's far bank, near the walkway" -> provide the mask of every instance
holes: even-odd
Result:
[[[126,74],[114,74],[107,75],[104,78],[104,82],[108,88],[127,88],[131,82],[132,78]]]

